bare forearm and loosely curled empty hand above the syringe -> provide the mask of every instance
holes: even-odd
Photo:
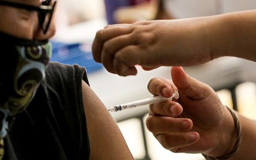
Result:
[[[223,56],[256,61],[256,10],[210,17],[152,20],[106,26],[93,42],[93,57],[120,76],[159,66],[191,66]]]

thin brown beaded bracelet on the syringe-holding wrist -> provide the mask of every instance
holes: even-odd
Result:
[[[233,148],[233,150],[231,150],[225,156],[221,156],[221,157],[218,157],[218,158],[213,158],[213,157],[207,156],[205,154],[202,154],[205,159],[209,159],[209,160],[222,160],[222,159],[226,160],[226,159],[230,159],[239,150],[239,146],[240,146],[240,144],[242,142],[241,124],[239,122],[239,119],[237,118],[236,113],[231,108],[229,108],[228,106],[226,106],[226,108],[228,108],[229,112],[231,113],[231,115],[232,115],[232,117],[234,119],[234,127],[236,129],[236,143],[234,144],[234,148]]]

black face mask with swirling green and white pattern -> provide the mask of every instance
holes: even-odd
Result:
[[[51,58],[48,41],[15,38],[0,32],[0,139],[4,138],[14,117],[33,99],[45,77]]]

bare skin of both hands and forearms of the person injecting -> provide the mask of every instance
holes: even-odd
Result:
[[[159,66],[192,66],[214,58],[233,56],[256,62],[256,10],[209,17],[152,20],[109,25],[93,42],[93,57],[110,73],[135,75]],[[149,82],[154,95],[170,97],[180,92],[178,103],[151,105],[147,128],[173,152],[228,154],[235,143],[234,121],[217,94],[206,84],[190,78],[179,67],[173,82],[155,78]],[[233,159],[255,159],[256,122],[237,113],[242,143]]]

